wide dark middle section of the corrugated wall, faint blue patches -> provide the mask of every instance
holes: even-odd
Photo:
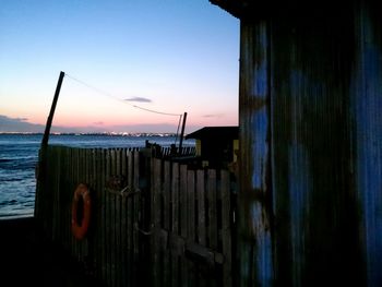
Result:
[[[349,71],[357,55],[347,12],[270,21],[279,284],[363,283],[359,206],[348,168]]]

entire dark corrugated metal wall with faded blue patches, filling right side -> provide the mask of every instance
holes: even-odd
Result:
[[[378,7],[287,3],[241,19],[239,284],[382,286]]]

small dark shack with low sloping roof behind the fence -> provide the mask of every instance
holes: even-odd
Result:
[[[239,150],[239,127],[204,127],[186,136],[194,139],[195,155],[203,167],[227,167],[237,162],[235,151]]]

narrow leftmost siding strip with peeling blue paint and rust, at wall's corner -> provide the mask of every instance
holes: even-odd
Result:
[[[240,73],[240,237],[242,282],[246,286],[272,286],[273,259],[270,214],[270,109],[267,26],[243,25]],[[253,132],[255,131],[255,132]],[[270,201],[267,201],[271,203]],[[256,272],[253,272],[255,270]]]

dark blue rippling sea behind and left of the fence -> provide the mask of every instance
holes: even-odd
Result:
[[[43,134],[0,134],[0,220],[29,217],[34,214],[36,179]],[[162,146],[179,144],[175,134],[51,134],[49,145],[73,147],[143,147],[156,143]],[[182,146],[194,146],[184,140]]]

